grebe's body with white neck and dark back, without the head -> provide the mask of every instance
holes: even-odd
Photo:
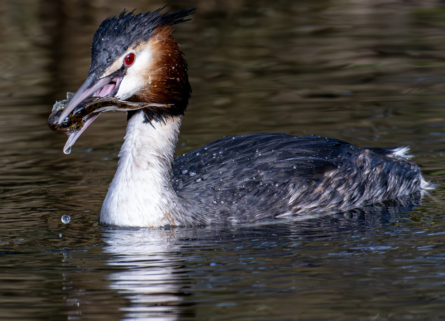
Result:
[[[143,120],[142,112],[129,120],[101,209],[104,224],[189,226],[328,214],[429,188],[407,148],[256,133],[216,140],[174,160],[181,118]]]

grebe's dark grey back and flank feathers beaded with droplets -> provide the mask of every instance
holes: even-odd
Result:
[[[336,213],[420,189],[403,157],[320,136],[258,133],[226,137],[179,157],[173,188],[201,215],[255,221]]]

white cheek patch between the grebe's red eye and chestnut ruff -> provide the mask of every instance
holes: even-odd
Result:
[[[117,91],[116,97],[119,99],[127,99],[133,96],[145,88],[148,83],[153,52],[148,47],[138,49],[134,51],[136,60],[134,60],[134,64],[128,67]]]

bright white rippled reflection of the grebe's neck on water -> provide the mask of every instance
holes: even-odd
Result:
[[[110,287],[130,301],[122,320],[172,321],[183,312],[180,296],[184,277],[178,273],[174,231],[116,230],[105,234],[107,264],[115,266]]]

